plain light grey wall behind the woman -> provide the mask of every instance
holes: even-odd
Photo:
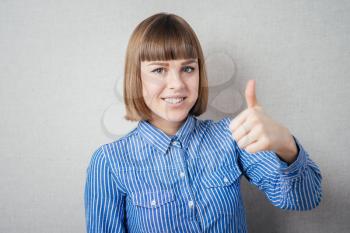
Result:
[[[135,125],[120,102],[129,36],[160,11],[196,31],[212,91],[232,81],[201,118],[243,110],[256,79],[266,112],[321,168],[310,212],[277,209],[243,182],[249,231],[348,232],[350,3],[331,0],[1,0],[0,232],[85,232],[92,152]]]

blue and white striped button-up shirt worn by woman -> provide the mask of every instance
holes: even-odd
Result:
[[[173,136],[139,121],[101,145],[86,170],[87,232],[247,232],[242,175],[276,207],[320,203],[320,170],[294,136],[298,157],[288,166],[273,151],[240,149],[230,121],[189,115]]]

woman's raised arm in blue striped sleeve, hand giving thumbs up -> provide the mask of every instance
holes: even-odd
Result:
[[[283,209],[309,210],[321,200],[322,176],[288,128],[269,117],[258,103],[255,81],[247,84],[248,108],[229,124],[238,161],[250,183]]]

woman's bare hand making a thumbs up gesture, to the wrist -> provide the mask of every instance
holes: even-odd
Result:
[[[241,149],[249,153],[272,150],[283,161],[291,164],[297,158],[298,148],[288,128],[263,112],[255,94],[255,80],[249,80],[245,90],[247,109],[230,123],[233,138]]]

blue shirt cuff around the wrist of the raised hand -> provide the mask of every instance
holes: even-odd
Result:
[[[296,139],[294,135],[292,136],[294,138],[295,144],[297,145],[298,151],[299,151],[297,155],[297,159],[288,166],[288,164],[282,161],[276,154],[276,156],[280,161],[280,174],[282,177],[285,177],[287,179],[299,176],[299,174],[304,170],[307,163],[306,151],[304,150],[303,146],[300,144],[298,139]]]

